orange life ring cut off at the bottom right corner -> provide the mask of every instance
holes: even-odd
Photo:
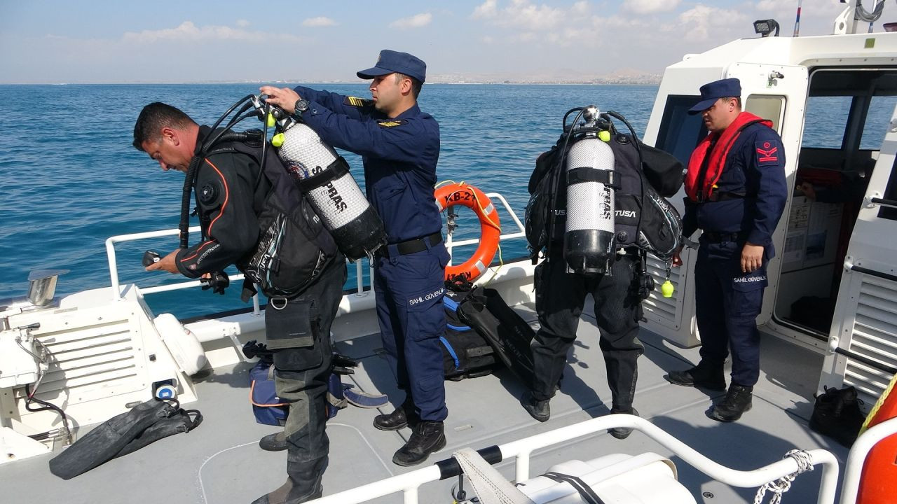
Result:
[[[891,384],[872,407],[860,435],[869,427],[897,417],[897,375],[891,378]],[[866,456],[863,472],[859,477],[857,504],[891,504],[897,502],[897,434],[878,441]]]

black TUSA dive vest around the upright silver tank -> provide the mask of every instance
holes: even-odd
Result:
[[[563,240],[567,207],[564,162],[581,137],[565,132],[536,159],[527,187],[530,198],[525,216],[527,248],[534,264],[541,252],[547,253],[550,242]],[[682,163],[634,135],[614,131],[608,145],[614,152],[616,246],[634,246],[663,260],[671,258],[682,242],[682,220],[666,197],[675,196],[682,187]]]

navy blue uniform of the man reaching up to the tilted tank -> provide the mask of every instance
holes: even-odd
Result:
[[[383,346],[400,388],[410,393],[422,421],[443,421],[448,410],[439,337],[448,252],[433,198],[440,128],[417,105],[387,117],[370,100],[315,91],[302,120],[324,142],[361,155],[370,204],[383,219],[389,245],[374,259],[374,290]],[[420,252],[401,255],[396,245],[423,239]],[[433,244],[432,241],[437,241]]]

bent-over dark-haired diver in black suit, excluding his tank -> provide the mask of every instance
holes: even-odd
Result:
[[[283,166],[269,166],[280,161],[271,156],[265,166],[259,166],[261,135],[252,144],[246,142],[251,135],[240,134],[232,138],[241,140],[220,136],[220,142],[207,145],[205,140],[218,132],[196,125],[187,114],[164,103],[151,103],[141,111],[134,146],[162,169],[184,171],[187,178],[196,174],[197,213],[203,230],[200,243],[179,248],[146,269],[196,278],[235,264],[249,276],[250,266],[256,265],[251,259],[258,255],[259,244],[266,243],[271,222],[283,222],[285,213],[290,213],[292,224],[288,225],[294,227],[278,229],[290,230],[284,234],[299,235],[299,240],[292,241],[288,250],[274,249],[281,253],[279,267],[259,284],[269,297],[265,326],[267,347],[275,351],[277,395],[290,404],[283,430],[288,480],[281,493],[296,502],[314,499],[321,495],[327,467],[329,335],[346,278],[344,256],[336,251],[327,231],[303,213],[300,193]],[[189,181],[186,187],[190,189]],[[287,201],[291,198],[295,201]],[[266,282],[269,278],[274,281]],[[268,502],[266,496],[261,499]]]

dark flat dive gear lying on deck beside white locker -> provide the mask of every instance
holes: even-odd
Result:
[[[100,423],[50,459],[50,473],[69,480],[153,441],[194,430],[202,421],[199,411],[181,409],[176,399],[150,399]]]

